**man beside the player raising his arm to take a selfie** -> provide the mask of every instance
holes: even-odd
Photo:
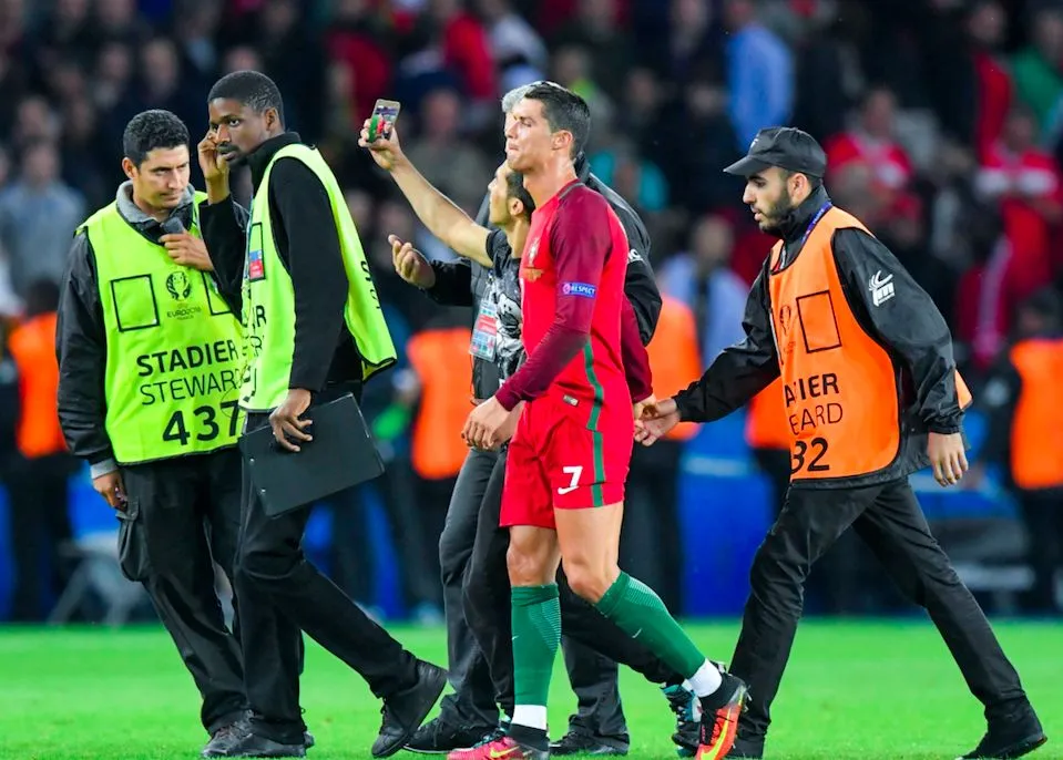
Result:
[[[359,144],[367,147],[377,165],[391,174],[402,194],[409,199],[418,218],[428,230],[447,244],[459,256],[478,261],[489,268],[488,285],[484,288],[482,306],[473,329],[472,347],[474,356],[490,357],[498,376],[507,380],[523,362],[525,353],[521,342],[521,287],[520,261],[524,243],[531,228],[534,202],[524,188],[523,175],[502,163],[494,173],[494,179],[488,186],[489,223],[498,228],[490,230],[473,222],[449,198],[435,188],[402,152],[398,130],[392,129],[390,136],[368,141],[369,121],[366,121]],[[430,265],[413,249],[411,244],[391,236],[389,238],[395,256],[395,267],[399,275],[411,284],[422,280],[419,274],[431,271]],[[625,264],[626,266],[626,264]],[[633,401],[643,401],[652,394],[650,388],[648,357],[640,351],[641,336],[634,306],[625,298],[622,301],[624,317],[624,342],[627,356],[632,357],[627,369]],[[631,350],[632,347],[635,350]],[[641,362],[640,362],[641,360]],[[505,576],[505,554],[509,547],[509,531],[499,528],[499,514],[502,502],[502,483],[507,460],[507,442],[515,425],[519,409],[510,413],[510,423],[505,434],[500,434],[499,463],[488,481],[487,489],[477,505],[478,524],[469,569],[464,573],[463,596],[464,617],[476,635],[480,650],[479,657],[485,657],[490,666],[494,694],[504,715],[513,713],[513,656],[508,605],[501,607],[500,599],[510,596],[509,578]],[[457,431],[456,431],[457,432]],[[668,668],[637,640],[633,640],[596,609],[576,597],[563,575],[561,581],[560,604],[562,627],[574,641],[580,643],[581,651],[590,656],[603,656],[610,663],[619,661],[643,674],[648,680],[661,684],[662,692],[676,713],[677,725],[673,740],[681,753],[693,754],[697,749],[699,708],[694,694],[683,686],[683,677]],[[610,688],[604,684],[600,688]],[[472,688],[468,681],[459,689]],[[615,687],[614,687],[615,688]],[[619,700],[619,697],[617,697]],[[494,732],[492,727],[490,732]],[[488,733],[488,732],[484,732]],[[482,738],[477,737],[477,739]],[[551,754],[623,754],[626,742],[619,738],[594,737],[570,731],[569,741],[551,746]],[[470,742],[474,744],[478,742]],[[423,751],[421,747],[408,746],[407,749]],[[462,748],[451,752],[452,758],[461,757]]]

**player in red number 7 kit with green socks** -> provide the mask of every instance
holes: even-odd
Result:
[[[507,161],[535,202],[521,257],[528,361],[470,414],[462,434],[491,448],[525,401],[510,444],[501,525],[510,527],[515,708],[508,733],[474,758],[545,758],[546,695],[561,636],[555,577],[691,681],[702,700],[697,757],[734,741],[745,685],[720,672],[656,594],[616,564],[634,432],[621,312],[627,239],[573,158],[590,131],[579,95],[529,90],[505,131]],[[651,397],[652,398],[652,397]]]

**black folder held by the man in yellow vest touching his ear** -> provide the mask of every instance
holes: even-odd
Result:
[[[269,425],[239,439],[251,485],[266,515],[276,517],[325,499],[384,472],[384,462],[358,402],[350,393],[303,415],[314,421],[307,432],[313,441],[299,442],[301,451],[283,449]]]

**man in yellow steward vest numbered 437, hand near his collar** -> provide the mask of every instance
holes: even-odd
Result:
[[[120,520],[123,574],[147,590],[200,689],[212,752],[246,709],[214,592],[215,562],[233,578],[239,528],[239,323],[200,237],[188,130],[145,111],[122,142],[129,181],[78,229],[62,283],[59,419]]]

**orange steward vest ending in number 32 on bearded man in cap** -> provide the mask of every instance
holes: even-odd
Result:
[[[783,243],[771,249],[771,326],[779,356],[790,435],[793,480],[856,477],[888,468],[900,453],[900,399],[893,362],[849,308],[830,242],[856,227],[831,207],[800,255],[776,270]],[[971,393],[957,372],[960,408]]]

